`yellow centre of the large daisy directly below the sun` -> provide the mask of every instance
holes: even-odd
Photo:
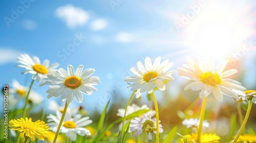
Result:
[[[221,83],[221,78],[217,73],[207,72],[201,75],[201,81],[208,85],[217,85]]]

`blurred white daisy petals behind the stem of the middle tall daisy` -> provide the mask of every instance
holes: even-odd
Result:
[[[127,111],[126,111],[126,115],[125,116],[130,115],[130,114],[132,114],[132,113],[134,113],[136,111],[142,110],[142,109],[149,110],[150,108],[147,107],[146,104],[142,105],[141,107],[139,107],[137,104],[129,105],[127,107]],[[124,117],[124,112],[125,112],[125,109],[120,108],[120,109],[117,110],[117,114],[116,115],[120,116],[120,117]],[[146,115],[151,114],[152,116],[154,116],[156,114],[156,111],[155,110],[151,110],[151,111],[146,112],[145,114]]]

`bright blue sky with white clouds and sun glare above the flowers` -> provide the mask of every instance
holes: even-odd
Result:
[[[124,76],[146,56],[169,59],[172,69],[186,56],[236,59],[250,69],[241,69],[250,78],[240,82],[255,87],[255,6],[254,1],[1,1],[0,83],[16,79],[29,85],[31,75],[15,67],[19,54],[27,53],[65,69],[68,64],[95,68],[101,84],[84,96],[86,107],[103,103],[117,88],[129,97]],[[78,44],[68,49],[74,40]],[[172,86],[183,89],[184,80],[174,77]],[[38,84],[33,89],[46,98],[48,87]]]

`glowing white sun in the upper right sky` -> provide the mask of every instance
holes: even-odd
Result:
[[[226,58],[252,34],[243,13],[207,5],[186,26],[185,44],[202,57]]]

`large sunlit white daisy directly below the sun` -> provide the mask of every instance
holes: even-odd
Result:
[[[209,94],[214,94],[215,98],[219,101],[223,101],[223,94],[239,99],[236,90],[244,91],[246,88],[232,79],[227,79],[227,77],[237,73],[236,69],[229,69],[224,71],[227,61],[220,62],[215,68],[213,60],[200,60],[194,61],[188,59],[186,61],[187,65],[178,68],[179,75],[193,80],[194,82],[188,84],[184,90],[191,89],[194,91],[201,90],[199,97],[201,99],[209,96]]]

